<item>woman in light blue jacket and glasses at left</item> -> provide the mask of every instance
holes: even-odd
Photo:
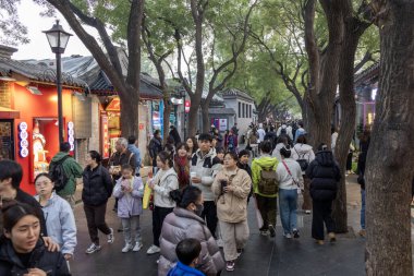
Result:
[[[58,242],[66,261],[73,257],[76,239],[76,224],[73,211],[68,201],[54,192],[54,184],[48,173],[40,173],[35,178],[37,195],[46,218],[48,235]]]

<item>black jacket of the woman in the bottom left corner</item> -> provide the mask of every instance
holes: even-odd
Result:
[[[0,242],[0,275],[25,275],[28,267],[36,267],[47,273],[48,276],[70,276],[66,261],[60,252],[49,252],[41,239],[32,251],[27,265],[24,265],[16,255],[12,242],[2,238]]]

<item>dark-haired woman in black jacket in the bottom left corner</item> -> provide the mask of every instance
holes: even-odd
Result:
[[[46,249],[40,219],[31,205],[10,202],[2,206],[0,275],[70,276],[61,252]]]

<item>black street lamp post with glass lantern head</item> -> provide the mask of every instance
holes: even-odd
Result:
[[[72,36],[68,32],[63,31],[59,24],[59,20],[49,31],[44,31],[48,38],[52,52],[56,53],[56,84],[58,87],[58,122],[59,122],[59,144],[63,143],[63,110],[62,110],[62,72],[61,72],[61,55],[66,48],[69,37]]]

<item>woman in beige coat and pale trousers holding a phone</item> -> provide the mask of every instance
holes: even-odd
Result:
[[[249,235],[246,200],[252,179],[238,168],[238,155],[227,153],[224,166],[216,176],[211,190],[217,196],[217,216],[224,242],[226,269],[234,271],[235,260],[242,253]]]

